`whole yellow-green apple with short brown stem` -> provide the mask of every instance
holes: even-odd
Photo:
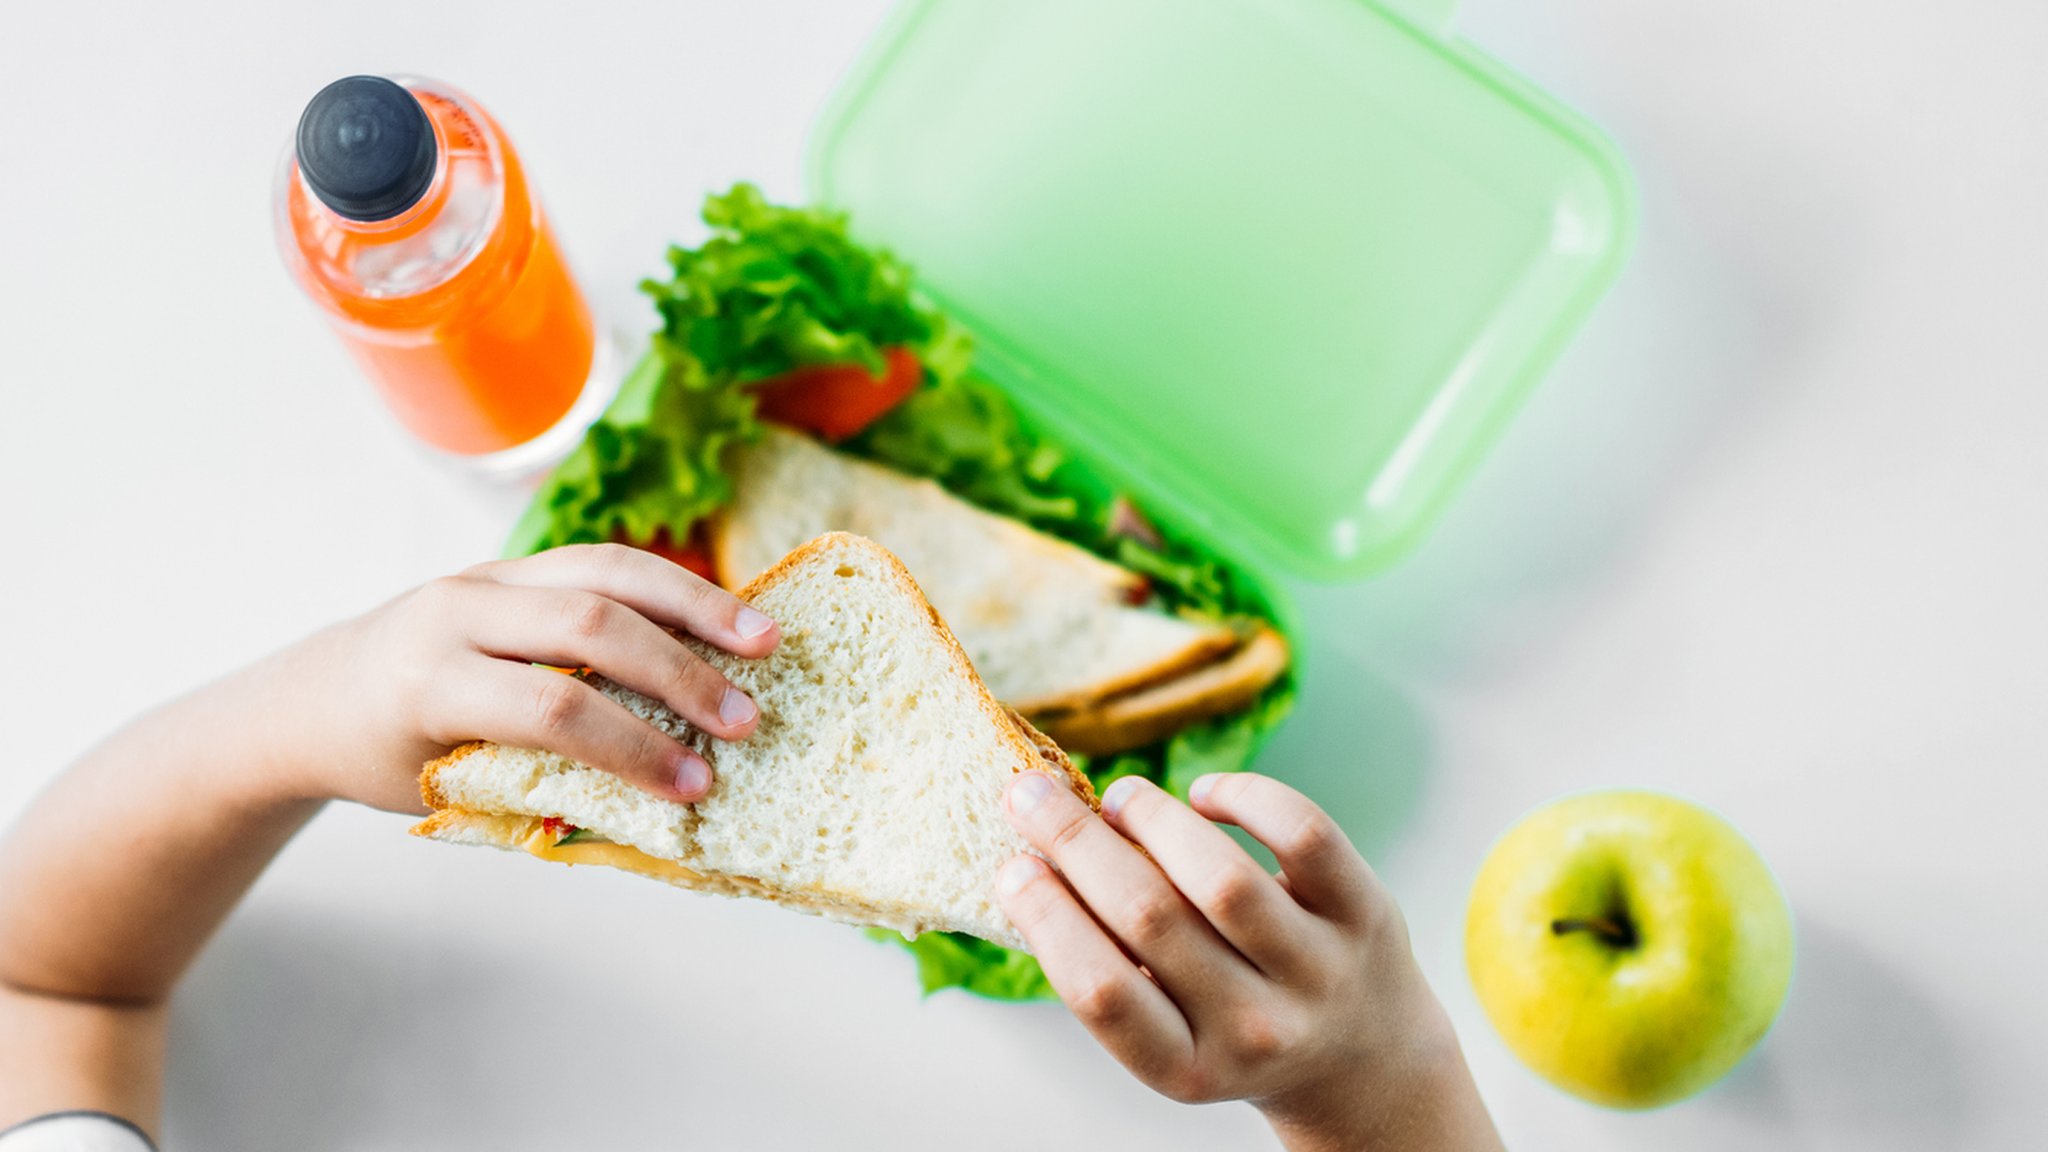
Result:
[[[1507,1047],[1618,1109],[1681,1101],[1747,1054],[1792,982],[1792,910],[1726,820],[1651,791],[1567,795],[1487,855],[1464,963]]]

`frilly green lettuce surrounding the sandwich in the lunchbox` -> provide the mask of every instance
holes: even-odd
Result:
[[[879,371],[885,348],[905,346],[924,367],[920,389],[842,451],[928,476],[973,504],[1122,564],[1151,582],[1167,611],[1274,619],[1260,586],[1202,543],[1165,531],[1153,545],[1118,531],[1116,492],[973,373],[967,332],[915,297],[909,266],[856,244],[844,215],[770,205],[752,184],[735,184],[705,201],[705,244],[670,248],[670,277],[641,285],[662,328],[612,406],[543,482],[508,553],[606,539],[645,543],[657,531],[686,539],[698,519],[731,498],[721,463],[727,445],[760,430],[750,383],[817,363]],[[1245,769],[1292,701],[1294,683],[1284,676],[1243,713],[1149,748],[1075,763],[1098,791],[1141,775],[1184,797],[1200,775]],[[1053,994],[1032,957],[975,937],[870,935],[909,949],[928,994]]]

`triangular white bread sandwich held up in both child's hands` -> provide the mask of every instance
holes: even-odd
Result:
[[[854,535],[819,537],[750,584],[782,644],[741,660],[690,648],[760,705],[754,736],[711,740],[637,693],[592,685],[711,760],[711,795],[674,804],[551,752],[467,744],[420,775],[451,842],[604,863],[682,888],[758,896],[901,933],[958,931],[1022,947],[997,867],[1028,851],[1001,812],[1008,779],[1087,779],[1006,711],[903,566]],[[541,818],[602,838],[563,845]]]

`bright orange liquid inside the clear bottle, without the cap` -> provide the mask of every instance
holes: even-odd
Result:
[[[446,207],[444,180],[408,213],[369,225],[338,219],[293,178],[289,213],[301,283],[336,320],[336,332],[397,418],[422,441],[461,455],[522,445],[553,428],[590,377],[596,332],[569,279],[510,141],[487,113],[416,92],[442,156],[481,156],[485,137],[502,164],[504,211],[459,273],[414,295],[371,297],[342,277],[354,256],[432,225]]]

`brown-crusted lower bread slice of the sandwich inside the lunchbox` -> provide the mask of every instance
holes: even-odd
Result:
[[[1262,627],[1243,648],[1214,664],[1073,711],[1040,715],[1038,724],[1061,748],[1083,756],[1143,748],[1200,719],[1251,707],[1286,666],[1286,640]]]

